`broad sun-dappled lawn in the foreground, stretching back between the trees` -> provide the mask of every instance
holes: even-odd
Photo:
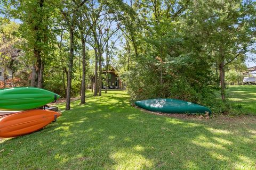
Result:
[[[0,141],[0,169],[256,168],[254,116],[158,116],[131,107],[125,91],[72,107],[39,132]]]

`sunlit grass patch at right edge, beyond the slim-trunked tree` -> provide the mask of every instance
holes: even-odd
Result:
[[[235,109],[243,114],[256,115],[256,86],[228,86],[227,94],[235,104]]]

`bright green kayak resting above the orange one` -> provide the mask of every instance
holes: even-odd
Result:
[[[0,110],[25,111],[42,107],[60,98],[51,91],[34,88],[19,87],[0,90]]]

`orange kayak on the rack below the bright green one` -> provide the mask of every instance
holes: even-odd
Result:
[[[32,133],[55,121],[61,114],[47,110],[30,110],[0,118],[0,138],[11,138]]]

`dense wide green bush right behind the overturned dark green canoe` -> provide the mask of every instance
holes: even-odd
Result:
[[[130,71],[124,72],[121,78],[127,83],[131,102],[174,98],[207,106],[214,113],[229,113],[230,102],[223,103],[215,95],[217,88],[211,85],[215,78],[207,63],[193,61],[188,56],[180,57],[182,59],[171,58],[172,62],[163,62],[162,66],[150,63],[150,59],[138,61]]]

